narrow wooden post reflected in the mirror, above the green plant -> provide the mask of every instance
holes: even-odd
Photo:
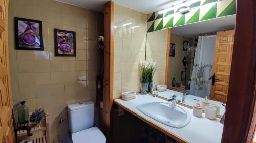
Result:
[[[168,28],[167,43],[166,43],[166,62],[165,62],[165,85],[168,85],[168,68],[169,68],[169,55],[170,55],[170,36],[172,35],[172,29]]]

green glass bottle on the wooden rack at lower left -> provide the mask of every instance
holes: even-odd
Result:
[[[25,105],[25,101],[19,102],[21,105],[18,107],[18,123],[25,124],[29,122],[29,107]]]

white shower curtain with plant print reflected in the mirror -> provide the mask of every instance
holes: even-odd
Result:
[[[191,75],[190,94],[209,98],[211,89],[212,65],[214,64],[216,35],[199,36],[193,71]]]

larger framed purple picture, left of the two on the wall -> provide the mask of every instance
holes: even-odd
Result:
[[[14,18],[17,50],[44,50],[42,21]]]

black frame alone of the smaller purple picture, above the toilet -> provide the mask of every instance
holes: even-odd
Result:
[[[58,32],[73,34],[73,37],[72,37],[73,38],[73,40],[72,40],[73,43],[71,43],[71,45],[73,44],[73,54],[60,54],[58,52],[58,50],[61,50],[61,48],[58,45]],[[76,56],[76,32],[54,29],[54,44],[55,44],[55,47],[54,47],[55,56]]]

